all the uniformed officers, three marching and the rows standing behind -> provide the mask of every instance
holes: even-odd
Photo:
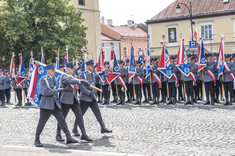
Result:
[[[104,124],[98,103],[102,105],[109,105],[111,103],[116,105],[125,105],[126,103],[133,103],[134,105],[159,105],[160,103],[167,105],[175,105],[176,103],[193,105],[198,101],[203,101],[204,98],[204,105],[219,104],[222,100],[225,100],[223,105],[232,105],[234,101],[234,83],[229,73],[235,72],[235,55],[225,55],[225,63],[230,70],[224,70],[223,75],[219,77],[217,68],[218,54],[207,53],[206,67],[200,72],[198,72],[197,58],[195,56],[191,57],[190,55],[188,55],[187,58],[190,70],[195,76],[196,84],[193,83],[192,77],[184,76],[179,71],[175,63],[177,56],[170,56],[170,63],[172,72],[176,75],[179,82],[178,85],[176,85],[174,78],[171,77],[168,79],[158,70],[158,58],[151,58],[150,72],[160,78],[160,84],[153,74],[150,74],[150,76],[146,78],[144,61],[141,62],[139,60],[136,60],[136,73],[130,81],[128,73],[129,59],[125,61],[119,60],[119,76],[127,87],[126,91],[123,91],[122,82],[119,79],[114,80],[111,84],[107,82],[110,72],[110,62],[108,61],[104,63],[104,82],[101,82],[100,77],[95,72],[96,69],[93,60],[86,62],[86,70],[83,72],[81,72],[80,63],[77,64],[78,68],[75,68],[76,65],[73,62],[69,62],[65,66],[61,65],[60,70],[63,71],[65,68],[66,74],[62,74],[60,77],[59,88],[58,80],[55,78],[55,65],[47,65],[45,67],[47,75],[41,78],[39,83],[40,118],[36,129],[35,146],[43,146],[40,142],[40,134],[51,115],[54,115],[58,121],[56,140],[64,141],[61,136],[61,130],[63,130],[67,138],[67,144],[77,142],[71,137],[65,122],[65,118],[70,109],[76,117],[72,132],[75,136],[79,136],[80,134],[77,130],[79,126],[81,130],[81,140],[92,141],[86,134],[83,121],[83,115],[88,108],[91,108],[95,115],[101,127],[101,133],[111,133],[112,131],[107,129]],[[16,69],[16,71],[16,76],[10,77],[8,71],[0,69],[1,106],[5,106],[5,103],[10,103],[11,88],[13,88],[17,96],[18,103],[16,106],[22,106],[22,91],[25,93],[24,96],[27,97],[29,70],[26,69],[27,78],[22,83],[22,87],[17,85],[17,75],[19,71],[18,69]],[[216,81],[206,71],[213,73]],[[76,77],[76,79],[71,79],[70,75]],[[141,82],[139,78],[143,81]],[[97,92],[91,85],[102,89],[102,92]],[[25,106],[30,105],[32,105],[31,102],[27,100]]]

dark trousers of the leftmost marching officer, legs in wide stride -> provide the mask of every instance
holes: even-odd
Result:
[[[60,125],[60,127],[62,128],[63,132],[64,133],[68,132],[68,127],[65,122],[63,113],[62,113],[61,109],[59,109],[57,107],[57,105],[55,104],[54,110],[40,108],[40,118],[39,118],[37,130],[36,130],[36,135],[40,135],[42,133],[42,130],[43,130],[47,120],[51,116],[51,114],[53,114],[55,116],[55,118],[58,121],[58,124]]]

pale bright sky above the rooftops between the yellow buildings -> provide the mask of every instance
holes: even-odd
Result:
[[[124,25],[131,19],[144,23],[175,0],[99,0],[101,17],[113,20],[113,25]]]

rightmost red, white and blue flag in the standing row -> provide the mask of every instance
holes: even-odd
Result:
[[[221,36],[221,42],[220,42],[220,48],[219,48],[219,60],[217,64],[218,68],[218,77],[223,74],[223,69],[224,69],[224,62],[225,62],[225,57],[224,57],[224,36]]]

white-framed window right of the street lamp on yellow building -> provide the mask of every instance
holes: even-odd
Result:
[[[203,37],[205,40],[213,39],[213,23],[212,22],[203,22],[199,24],[199,34],[200,37]]]

